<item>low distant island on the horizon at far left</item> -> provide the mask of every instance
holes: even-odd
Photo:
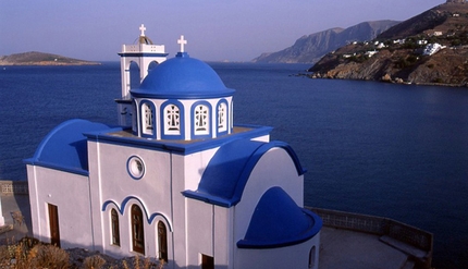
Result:
[[[96,65],[99,62],[77,60],[63,56],[29,51],[0,57],[0,65]]]

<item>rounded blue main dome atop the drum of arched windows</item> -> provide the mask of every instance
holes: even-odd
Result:
[[[207,63],[178,52],[149,72],[141,85],[131,90],[134,97],[217,98],[231,96],[217,72]]]

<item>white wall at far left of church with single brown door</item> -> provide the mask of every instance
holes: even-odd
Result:
[[[94,249],[88,178],[27,164],[33,234],[50,242],[48,204],[59,213],[62,248]]]

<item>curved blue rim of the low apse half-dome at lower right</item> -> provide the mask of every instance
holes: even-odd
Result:
[[[317,216],[316,213],[313,213],[312,211],[307,210],[305,208],[301,208],[301,210],[305,215],[307,215],[309,218],[311,218],[311,221],[313,221],[313,225],[307,232],[299,234],[295,237],[291,237],[287,241],[274,241],[274,242],[269,242],[269,243],[239,240],[237,242],[237,247],[238,248],[257,248],[257,249],[278,248],[278,247],[284,247],[284,246],[297,245],[297,244],[300,244],[300,243],[304,243],[304,242],[310,240],[311,237],[316,236],[316,234],[318,234],[320,232],[320,230],[322,229],[323,222],[322,222],[322,219],[319,216]]]

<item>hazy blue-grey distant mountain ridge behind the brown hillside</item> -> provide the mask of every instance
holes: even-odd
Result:
[[[284,50],[262,53],[253,62],[258,63],[313,63],[328,52],[352,41],[364,41],[375,38],[379,34],[397,24],[395,21],[365,22],[346,29],[331,28],[328,30],[303,36]]]

